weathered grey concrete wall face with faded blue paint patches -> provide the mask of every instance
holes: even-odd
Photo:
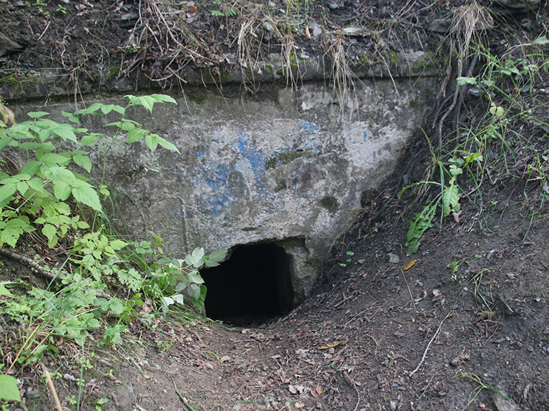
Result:
[[[261,101],[202,88],[178,97],[178,105],[155,105],[152,115],[128,110],[181,154],[128,148],[119,138],[106,164],[106,182],[118,190],[114,220],[134,234],[163,237],[176,256],[198,246],[209,252],[276,242],[294,262],[295,302],[302,301],[318,277],[318,259],[353,221],[362,192],[395,168],[434,88],[429,78],[396,86],[377,79],[358,86],[344,107],[323,84],[264,86]],[[65,121],[60,112],[74,105],[47,109]],[[21,119],[30,110],[36,108],[18,106],[16,114]],[[112,131],[99,143],[107,147],[111,138]],[[101,151],[92,158],[101,164]]]

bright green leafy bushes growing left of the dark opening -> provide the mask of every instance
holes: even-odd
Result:
[[[93,103],[74,113],[63,112],[69,123],[49,120],[47,112],[30,112],[30,121],[15,123],[12,112],[0,107],[5,120],[0,149],[6,157],[14,158],[12,172],[0,173],[0,246],[15,247],[24,233],[36,232],[47,239],[50,248],[61,238],[72,242],[69,258],[56,271],[49,271],[54,279],[46,289],[23,282],[0,285],[5,319],[26,325],[20,328],[19,343],[10,348],[14,358],[10,368],[39,361],[45,351],[56,351],[57,337],[83,346],[90,332],[104,329],[104,344],[122,344],[127,328],[124,322],[139,318],[134,307],[143,304],[142,292],[152,294],[165,309],[170,299],[183,303],[183,295],[180,299],[176,295],[186,292],[189,302],[201,308],[206,289],[198,268],[213,266],[224,258],[224,253],[205,256],[203,249],[197,249],[185,260],[161,258],[154,262],[162,256],[161,238],[125,241],[100,223],[108,222],[101,197],[106,199],[110,193],[102,181],[94,185],[86,175],[93,164],[90,152],[82,147],[103,138],[106,144],[98,146],[106,158],[113,143],[125,135],[128,144],[144,140],[152,152],[159,146],[178,151],[171,142],[126,116],[129,107],[141,105],[152,112],[155,103],[175,103],[174,99],[165,95],[126,98],[126,107]],[[80,127],[82,116],[112,112],[119,116],[118,121],[106,125],[114,127],[112,136]],[[60,149],[60,142],[69,149]],[[82,215],[93,221],[95,228]],[[67,264],[71,269],[64,271]],[[128,298],[110,297],[107,284],[126,288]],[[171,292],[170,296],[166,292]],[[9,388],[10,382],[5,385]],[[12,395],[8,393],[6,398],[12,399]]]

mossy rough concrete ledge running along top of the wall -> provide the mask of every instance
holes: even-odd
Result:
[[[185,86],[220,86],[222,84],[261,84],[271,82],[296,86],[301,82],[329,80],[334,62],[326,56],[296,60],[287,73],[281,55],[270,54],[267,60],[253,67],[239,68],[235,55],[224,55],[229,71],[221,73],[219,67],[180,71],[180,79],[173,82],[153,81],[146,73],[132,73],[119,78],[119,66],[100,66],[86,73],[71,73],[64,69],[44,69],[6,84],[0,84],[0,97],[5,101],[21,99],[74,99],[99,93],[136,92],[137,90],[180,90]],[[436,77],[436,68],[425,51],[393,52],[382,62],[358,62],[349,67],[353,82],[366,79],[401,77]],[[78,75],[80,74],[80,75]],[[75,77],[78,82],[74,82]],[[293,79],[293,82],[292,80]]]

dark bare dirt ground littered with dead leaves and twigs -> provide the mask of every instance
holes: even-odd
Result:
[[[17,72],[23,60],[27,71],[80,64],[75,58],[82,54],[78,47],[69,52],[69,43],[78,45],[76,39],[90,38],[90,31],[82,32],[88,27],[78,19],[101,27],[103,21],[86,13],[101,5],[108,14],[123,3],[83,1],[82,14],[71,12],[67,21],[53,4],[42,12],[14,4],[0,3],[2,30],[27,50],[19,60],[10,55],[2,69],[25,75]],[[382,8],[373,1],[357,4],[345,10]],[[404,5],[395,1],[384,12],[397,14]],[[135,4],[127,6],[130,12]],[[334,10],[334,18],[344,20],[342,9]],[[15,23],[29,16],[32,32],[44,34],[39,40],[28,40],[27,27]],[[115,36],[127,36],[128,29],[110,30],[108,36],[91,34],[115,55],[121,44]],[[59,39],[67,40],[63,53]],[[49,53],[57,57],[44,57]],[[536,99],[547,101],[547,95],[540,91]],[[546,134],[537,145],[549,154]],[[57,371],[64,409],[549,410],[549,210],[543,189],[526,176],[484,182],[471,201],[461,201],[459,223],[447,217],[407,257],[406,232],[419,205],[393,193],[409,159],[364,198],[354,225],[322,262],[312,297],[283,318],[246,328],[178,316],[149,325],[136,320],[121,347],[102,347],[100,336],[91,334],[83,367],[80,348],[60,340],[59,353],[45,353],[43,362]],[[428,150],[414,161],[425,168]],[[4,257],[1,262],[0,279],[39,284],[27,267]],[[9,346],[9,333],[1,335],[1,345]],[[40,375],[29,366],[15,376],[29,410],[53,410]],[[79,396],[82,406],[75,404]],[[14,404],[8,409],[19,410]]]

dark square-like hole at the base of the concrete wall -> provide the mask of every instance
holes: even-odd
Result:
[[[229,260],[200,271],[211,319],[251,325],[293,308],[293,259],[274,244],[242,245]]]

